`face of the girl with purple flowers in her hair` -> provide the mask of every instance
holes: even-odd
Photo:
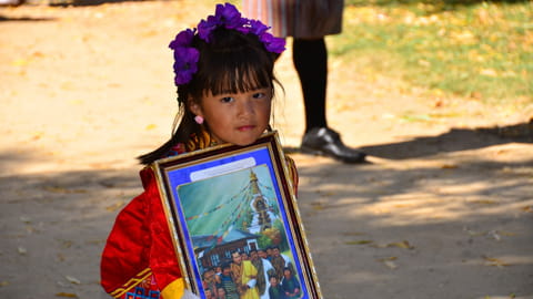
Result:
[[[218,143],[249,145],[266,130],[270,121],[272,89],[213,95],[208,92],[191,111],[209,125]]]

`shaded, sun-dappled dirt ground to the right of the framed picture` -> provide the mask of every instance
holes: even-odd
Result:
[[[473,156],[299,167],[326,298],[533,298],[533,159]]]

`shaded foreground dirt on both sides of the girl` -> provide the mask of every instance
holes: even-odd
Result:
[[[0,155],[0,162],[36,158]],[[300,167],[298,205],[325,297],[353,298],[354,291],[361,298],[439,299],[533,293],[532,218],[519,208],[531,200],[523,167],[533,167],[533,161],[480,158],[453,169],[336,163]],[[6,241],[0,262],[11,275],[2,278],[9,283],[0,297],[28,293],[30,283],[44,297],[100,298],[98,261],[105,237],[140,186],[134,169],[1,177],[0,238]],[[371,213],[384,210],[381,205],[388,203],[400,205],[398,213]],[[509,235],[497,241],[487,233],[495,229]],[[386,246],[404,240],[411,248]],[[18,255],[20,248],[28,252]],[[510,265],[486,265],[496,257]],[[388,258],[395,269],[383,264]],[[81,283],[69,283],[66,276]],[[421,287],[419,281],[431,283]]]

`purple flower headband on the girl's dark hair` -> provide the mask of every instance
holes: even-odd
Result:
[[[198,37],[209,43],[211,32],[219,27],[233,29],[244,34],[253,33],[258,35],[269,52],[281,53],[285,50],[284,39],[275,38],[266,32],[270,27],[258,20],[242,18],[239,10],[230,3],[217,4],[214,16],[209,16],[208,20],[200,21],[198,24]],[[194,34],[197,34],[197,29],[185,29],[178,33],[175,39],[169,44],[169,48],[174,50],[175,85],[189,83],[198,71],[200,52],[191,45]]]

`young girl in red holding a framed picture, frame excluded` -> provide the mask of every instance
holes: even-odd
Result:
[[[172,137],[140,157],[152,162],[215,144],[248,145],[270,128],[274,58],[284,40],[235,7],[180,32],[174,51],[180,123]],[[288,158],[293,186],[293,162]],[[154,174],[141,171],[144,192],[117,216],[101,261],[101,283],[115,298],[182,298],[184,280],[172,245]],[[190,293],[190,292],[188,292]]]

